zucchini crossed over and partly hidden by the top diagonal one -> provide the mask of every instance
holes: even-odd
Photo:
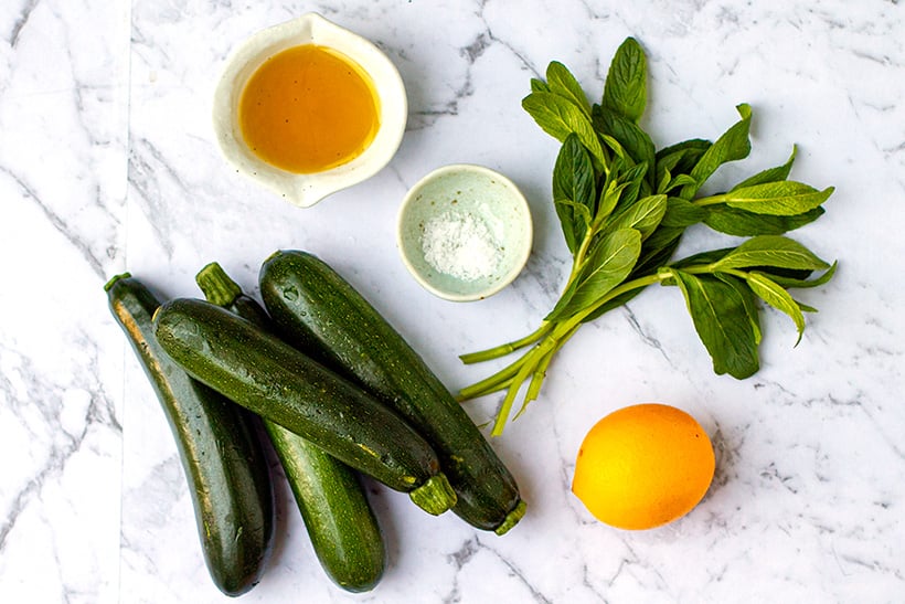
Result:
[[[273,329],[264,308],[243,294],[220,264],[202,268],[195,280],[209,301]],[[358,473],[274,422],[264,420],[264,427],[327,575],[350,592],[374,589],[383,575],[386,550]]]

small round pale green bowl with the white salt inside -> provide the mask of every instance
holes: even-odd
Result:
[[[405,266],[425,289],[454,301],[482,299],[512,283],[533,240],[531,212],[515,184],[465,163],[418,181],[397,226]]]

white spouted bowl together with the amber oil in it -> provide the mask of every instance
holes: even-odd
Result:
[[[386,166],[407,116],[405,86],[383,51],[313,12],[236,49],[213,106],[236,171],[301,208]]]

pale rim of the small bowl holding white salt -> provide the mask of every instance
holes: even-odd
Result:
[[[502,276],[499,280],[493,283],[491,286],[476,290],[469,294],[461,294],[457,292],[450,292],[447,289],[441,289],[436,287],[429,280],[427,280],[424,275],[422,275],[420,271],[417,266],[415,266],[409,257],[405,253],[405,227],[406,227],[406,214],[409,206],[415,202],[417,194],[428,184],[433,183],[435,180],[438,180],[441,177],[448,176],[450,173],[465,173],[465,174],[481,174],[485,177],[489,177],[493,180],[501,182],[507,191],[509,192],[508,199],[513,200],[514,206],[518,206],[520,213],[524,216],[524,224],[523,230],[525,233],[522,248],[519,253],[514,256],[513,262],[509,265],[508,269],[502,273]],[[436,168],[422,177],[415,184],[413,184],[408,191],[406,192],[405,197],[403,198],[402,204],[400,205],[397,219],[396,219],[396,246],[400,251],[400,256],[402,257],[403,264],[405,265],[408,273],[415,278],[415,280],[425,289],[434,294],[435,296],[443,298],[449,301],[476,301],[482,300],[488,298],[494,294],[498,294],[507,286],[512,284],[515,278],[522,273],[524,269],[525,264],[528,264],[528,258],[531,255],[531,248],[534,241],[534,224],[533,219],[531,216],[531,208],[528,203],[522,191],[519,187],[512,182],[511,179],[501,174],[500,172],[487,168],[485,166],[476,165],[476,163],[449,163],[446,166],[441,166]]]

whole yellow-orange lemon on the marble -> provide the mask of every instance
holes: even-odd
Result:
[[[572,491],[607,524],[650,529],[691,511],[714,469],[713,445],[694,417],[670,405],[631,405],[587,433]]]

